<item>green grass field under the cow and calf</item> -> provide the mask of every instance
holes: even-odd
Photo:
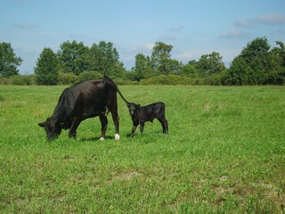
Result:
[[[0,86],[0,213],[284,213],[284,86],[119,86],[130,102],[163,101],[159,121],[129,138],[118,96],[120,141],[109,115],[77,140],[37,126],[63,86]]]

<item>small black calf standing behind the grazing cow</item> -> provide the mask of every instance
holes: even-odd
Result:
[[[165,104],[162,102],[152,103],[146,106],[140,106],[140,104],[127,103],[128,110],[133,120],[133,128],[131,137],[134,137],[134,131],[140,124],[141,133],[146,121],[153,122],[153,119],[159,119],[164,134],[168,133],[168,122],[165,114]]]

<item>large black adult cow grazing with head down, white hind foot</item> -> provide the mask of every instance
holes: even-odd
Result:
[[[69,137],[76,137],[81,121],[99,116],[102,124],[100,140],[104,140],[108,125],[107,113],[110,111],[115,124],[115,139],[118,140],[117,92],[128,103],[110,78],[77,83],[64,89],[53,115],[38,125],[45,128],[48,140],[60,136],[61,128],[69,129]]]

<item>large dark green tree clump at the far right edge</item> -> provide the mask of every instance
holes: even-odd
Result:
[[[273,48],[266,37],[256,37],[233,59],[224,81],[233,85],[282,84],[284,81],[284,45]],[[234,80],[239,77],[240,80]]]

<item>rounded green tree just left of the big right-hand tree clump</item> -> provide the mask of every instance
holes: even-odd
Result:
[[[200,57],[199,62],[197,62],[196,68],[199,70],[199,75],[202,77],[218,74],[225,70],[222,56],[220,53],[216,52],[203,54]]]

